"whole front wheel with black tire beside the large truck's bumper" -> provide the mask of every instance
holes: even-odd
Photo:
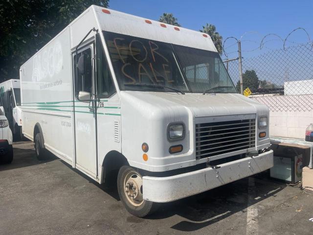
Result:
[[[124,165],[119,169],[117,190],[126,210],[136,217],[145,217],[155,212],[158,208],[157,203],[142,199],[142,176],[130,166]],[[135,198],[132,198],[130,195],[135,195]]]

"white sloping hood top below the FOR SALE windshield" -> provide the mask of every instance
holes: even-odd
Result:
[[[165,93],[123,91],[121,96],[134,106],[159,107],[171,109],[184,107],[188,113],[196,117],[212,117],[224,115],[256,114],[265,115],[268,108],[241,94],[201,94],[201,93]],[[124,97],[123,97],[124,98]],[[133,101],[133,102],[132,102]],[[138,108],[138,107],[137,107]]]

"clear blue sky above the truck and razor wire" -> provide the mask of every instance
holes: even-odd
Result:
[[[224,39],[243,36],[246,55],[259,53],[254,49],[269,33],[286,38],[293,29],[303,27],[313,39],[313,0],[110,0],[109,5],[111,9],[152,20],[158,20],[163,13],[173,13],[182,27],[193,30],[206,23],[214,24]],[[268,48],[282,47],[277,37],[266,39]],[[304,31],[297,30],[288,40],[286,46],[309,39]],[[234,43],[231,39],[225,43],[230,57],[236,54],[236,45],[231,46]]]

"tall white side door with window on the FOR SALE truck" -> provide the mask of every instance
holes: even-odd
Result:
[[[76,168],[97,177],[96,107],[94,89],[94,42],[81,47],[78,58],[73,53],[74,123]],[[77,66],[80,69],[77,69]],[[82,97],[82,94],[85,94]],[[89,94],[89,97],[86,94]]]

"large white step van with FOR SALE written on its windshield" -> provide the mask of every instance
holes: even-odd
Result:
[[[268,108],[238,94],[209,35],[90,6],[21,67],[23,134],[145,216],[264,171]]]

